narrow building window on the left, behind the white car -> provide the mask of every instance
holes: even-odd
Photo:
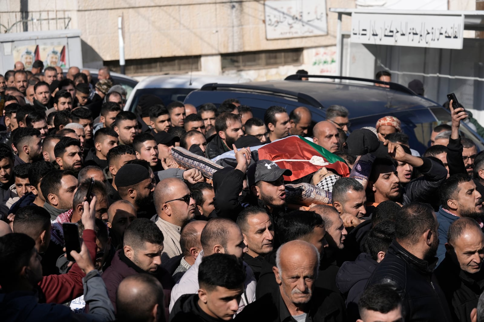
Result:
[[[119,60],[105,61],[104,65],[110,70],[120,72]],[[126,59],[125,71],[127,75],[188,72],[201,70],[200,56],[160,57],[145,59]]]

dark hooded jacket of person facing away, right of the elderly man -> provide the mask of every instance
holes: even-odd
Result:
[[[341,265],[336,275],[336,285],[346,297],[348,321],[356,321],[360,318],[358,301],[377,265],[377,261],[365,252],[361,253],[354,262],[345,262]]]

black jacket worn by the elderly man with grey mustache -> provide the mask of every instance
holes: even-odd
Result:
[[[280,322],[282,320],[281,313],[285,314],[285,316],[290,316],[281,298],[279,287],[277,287],[272,293],[265,294],[257,301],[247,305],[235,317],[234,321]],[[313,290],[307,315],[306,321],[308,321],[308,318],[311,318],[310,321],[312,322],[346,321],[345,305],[341,296],[335,292],[318,287],[315,287]]]

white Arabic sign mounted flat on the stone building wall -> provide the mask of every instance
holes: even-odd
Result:
[[[264,8],[268,40],[328,34],[326,0],[268,0]]]

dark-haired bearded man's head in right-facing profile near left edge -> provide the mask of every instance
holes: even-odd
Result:
[[[15,166],[44,159],[40,131],[32,127],[18,127],[12,132],[12,144],[17,150]]]

